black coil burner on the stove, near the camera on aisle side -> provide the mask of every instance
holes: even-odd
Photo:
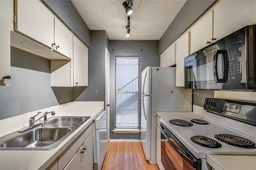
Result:
[[[215,141],[214,139],[204,137],[204,136],[193,136],[190,138],[192,142],[196,143],[197,145],[200,145],[202,147],[207,148],[220,148],[221,144],[218,141]]]

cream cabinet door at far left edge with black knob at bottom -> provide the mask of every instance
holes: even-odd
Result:
[[[0,1],[0,85],[10,86],[10,2]]]

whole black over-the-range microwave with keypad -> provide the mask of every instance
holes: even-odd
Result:
[[[256,25],[184,58],[185,88],[256,91]]]

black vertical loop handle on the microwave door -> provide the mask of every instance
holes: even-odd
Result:
[[[218,76],[218,55],[222,54],[223,57],[223,61],[224,61],[224,74],[223,74],[223,78],[219,78]],[[213,57],[213,72],[214,72],[214,81],[216,83],[224,83],[226,82],[226,68],[225,68],[225,64],[226,64],[226,55],[227,55],[227,50],[216,50],[214,53],[214,57]]]

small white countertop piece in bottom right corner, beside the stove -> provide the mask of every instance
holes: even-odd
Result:
[[[214,170],[256,170],[256,155],[206,155]]]

